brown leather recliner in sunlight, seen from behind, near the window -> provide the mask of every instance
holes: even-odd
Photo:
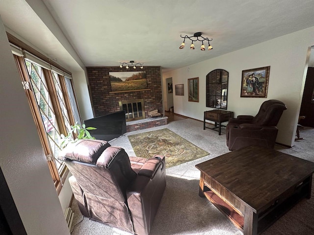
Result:
[[[81,213],[136,235],[148,235],[166,187],[165,158],[129,157],[107,141],[80,140],[59,155]]]

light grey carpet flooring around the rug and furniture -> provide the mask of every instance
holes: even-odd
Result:
[[[224,129],[219,136],[216,131],[203,130],[203,122],[188,118],[170,122],[166,126],[126,133],[110,141],[110,144],[121,146],[130,156],[135,156],[128,135],[162,128],[177,133],[209,152],[210,155],[166,169],[167,186],[150,235],[243,235],[206,198],[198,196],[200,171],[195,168],[195,164],[229,152]],[[276,149],[314,162],[314,128],[301,130],[300,135],[304,140],[296,141],[293,148],[276,145]],[[299,202],[262,235],[314,235],[313,194],[314,184],[312,184],[311,199]],[[72,235],[131,235],[86,217],[83,218],[75,200],[72,209],[75,211]]]

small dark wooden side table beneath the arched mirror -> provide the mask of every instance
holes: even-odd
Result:
[[[221,135],[221,126],[223,126],[221,123],[229,121],[229,118],[233,118],[233,117],[234,117],[234,112],[231,112],[231,111],[218,110],[218,109],[205,111],[204,112],[204,130],[205,130],[205,128],[208,128],[208,129],[211,129],[214,131],[218,131],[218,134],[220,136]],[[205,125],[206,124],[205,120],[214,121],[215,126],[213,128],[207,127]],[[216,130],[216,128],[218,128],[218,130]]]

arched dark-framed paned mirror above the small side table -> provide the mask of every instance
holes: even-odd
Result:
[[[206,75],[206,107],[227,109],[229,72],[213,70]]]

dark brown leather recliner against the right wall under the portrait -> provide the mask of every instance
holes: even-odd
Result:
[[[270,99],[262,103],[255,117],[240,115],[237,118],[230,118],[226,127],[229,150],[250,145],[273,148],[278,134],[276,125],[286,109],[283,102]]]

